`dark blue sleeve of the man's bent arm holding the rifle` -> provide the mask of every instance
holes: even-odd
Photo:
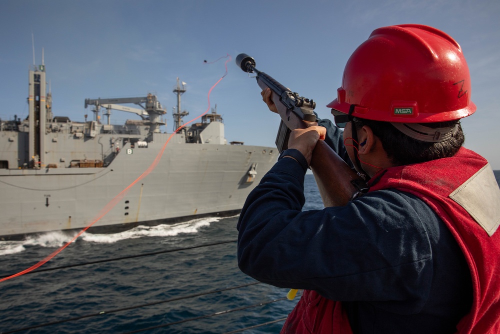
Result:
[[[333,300],[421,307],[432,279],[429,237],[417,212],[425,205],[385,190],[343,207],[302,212],[303,180],[299,164],[283,158],[250,193],[237,226],[240,269]]]

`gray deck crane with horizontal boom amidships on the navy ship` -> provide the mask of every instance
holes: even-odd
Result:
[[[136,104],[142,109],[120,106],[120,104]],[[94,112],[97,114],[99,108],[107,110],[107,124],[110,122],[111,109],[119,110],[139,115],[143,120],[149,120],[149,133],[160,132],[159,127],[165,125],[159,120],[160,115],[166,114],[166,110],[161,106],[155,95],[147,94],[146,97],[137,98],[115,98],[115,99],[85,99],[85,108],[95,106]]]

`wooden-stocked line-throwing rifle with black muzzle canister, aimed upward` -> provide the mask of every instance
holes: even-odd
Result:
[[[281,117],[276,146],[281,152],[286,149],[290,130],[304,129],[317,125],[313,112],[315,103],[300,97],[281,85],[269,75],[255,68],[255,60],[246,54],[236,57],[236,64],[247,73],[255,73],[258,86],[271,89],[271,99]],[[323,140],[318,140],[310,162],[323,205],[341,206],[364,193],[367,186],[345,161]]]

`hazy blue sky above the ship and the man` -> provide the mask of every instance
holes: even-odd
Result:
[[[185,122],[216,105],[228,142],[274,146],[279,118],[262,102],[255,79],[236,66],[238,54],[250,55],[258,70],[316,101],[318,116],[329,118],[325,105],[336,97],[355,48],[376,28],[415,23],[460,44],[477,106],[462,121],[465,147],[500,169],[498,18],[498,0],[0,0],[0,118],[27,116],[34,44],[37,65],[43,48],[56,116],[83,121],[85,114],[92,117],[86,98],[152,93],[167,110],[164,130],[172,132],[172,91],[179,78],[187,84]],[[227,75],[208,101],[228,57]],[[137,118],[114,111],[111,121]]]

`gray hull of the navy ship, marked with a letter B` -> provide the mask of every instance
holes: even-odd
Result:
[[[237,213],[277,158],[269,147],[172,142],[154,166],[163,143],[126,144],[106,167],[0,170],[0,237]]]

